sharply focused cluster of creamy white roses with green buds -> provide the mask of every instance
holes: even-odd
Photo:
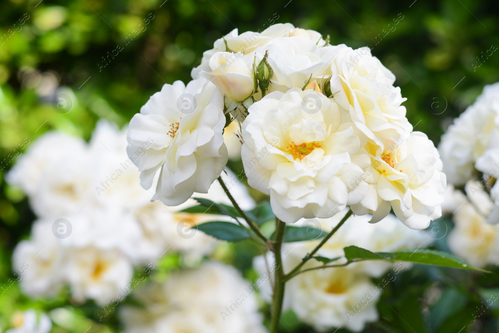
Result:
[[[173,206],[206,193],[228,150],[239,151],[223,139],[237,119],[248,182],[286,223],[346,206],[371,213],[371,222],[393,207],[414,229],[440,217],[439,154],[412,132],[395,76],[368,47],[330,45],[290,23],[235,29],[204,53],[192,77],[187,86],[165,84],[130,122],[129,156],[147,151],[135,161],[146,189],[159,171],[153,199]]]

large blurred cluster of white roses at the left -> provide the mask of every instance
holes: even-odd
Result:
[[[180,212],[194,206],[194,199],[174,208],[150,201],[126,154],[126,132],[100,121],[88,144],[47,133],[7,175],[28,195],[38,217],[30,239],[16,246],[12,259],[14,270],[28,266],[20,284],[29,296],[53,296],[68,285],[77,302],[119,301],[137,284],[134,267],[154,267],[166,250],[195,266],[217,244],[189,230],[214,219]],[[242,185],[235,190],[245,209],[254,207]],[[230,204],[219,184],[199,196]]]

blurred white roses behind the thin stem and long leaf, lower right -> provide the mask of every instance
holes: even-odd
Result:
[[[328,219],[317,219],[325,231],[331,230],[343,217],[343,213]],[[350,245],[359,246],[372,252],[392,252],[412,248],[424,248],[432,243],[425,232],[412,230],[402,225],[389,214],[377,224],[368,223],[367,216],[352,216],[326,244],[317,252],[324,258],[344,256],[343,249]],[[286,243],[282,249],[284,272],[288,273],[302,258],[314,249],[320,240],[299,243]],[[341,264],[346,259],[338,259]],[[273,254],[267,254],[253,261],[260,273],[267,272],[267,265],[273,263]],[[311,260],[304,269],[321,267],[323,264]],[[284,293],[284,310],[291,309],[300,321],[309,324],[317,332],[345,327],[360,332],[367,323],[378,320],[376,303],[384,288],[400,277],[399,273],[408,269],[409,263],[391,264],[379,261],[365,261],[340,268],[311,270],[289,280]],[[381,278],[376,285],[371,278]],[[261,295],[270,301],[272,289],[269,283],[261,287]]]

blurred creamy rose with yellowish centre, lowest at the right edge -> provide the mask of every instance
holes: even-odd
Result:
[[[453,215],[455,227],[448,244],[458,257],[476,267],[499,265],[498,225],[487,223],[486,215],[465,202]]]

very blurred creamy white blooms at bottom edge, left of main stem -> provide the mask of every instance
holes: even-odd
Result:
[[[265,332],[250,284],[221,263],[174,273],[164,284],[150,284],[135,295],[144,310],[122,308],[125,333]]]

